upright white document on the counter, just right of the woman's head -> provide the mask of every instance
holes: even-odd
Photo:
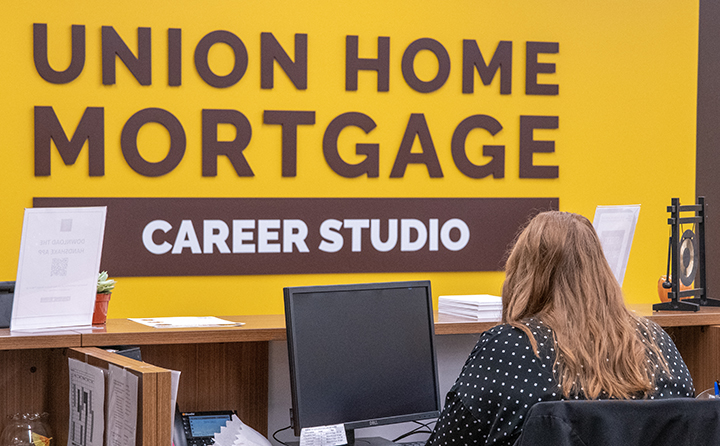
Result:
[[[598,206],[593,226],[600,238],[605,258],[620,286],[625,279],[640,205]]]

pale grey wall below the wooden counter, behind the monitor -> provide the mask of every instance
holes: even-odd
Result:
[[[440,393],[445,400],[450,387],[460,374],[463,364],[472,351],[480,336],[472,335],[436,335],[435,348],[438,360],[438,375],[440,378]],[[269,383],[268,383],[268,436],[273,445],[278,443],[272,439],[272,433],[290,425],[289,409],[292,405],[290,397],[290,371],[288,367],[287,344],[285,341],[270,342],[269,352]],[[414,423],[403,423],[390,426],[379,426],[358,429],[357,437],[384,437],[395,439],[401,434],[414,429]],[[427,435],[414,435],[402,441],[421,441]],[[292,430],[278,434],[283,441],[296,441]]]

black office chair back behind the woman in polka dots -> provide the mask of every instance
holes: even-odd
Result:
[[[515,446],[720,445],[720,400],[548,401]]]

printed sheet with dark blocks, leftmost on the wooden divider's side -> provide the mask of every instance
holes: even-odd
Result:
[[[103,369],[68,358],[70,425],[68,446],[103,446],[105,375]]]

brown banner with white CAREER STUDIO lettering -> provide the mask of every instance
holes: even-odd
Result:
[[[107,206],[114,277],[497,271],[558,198],[35,198]]]

